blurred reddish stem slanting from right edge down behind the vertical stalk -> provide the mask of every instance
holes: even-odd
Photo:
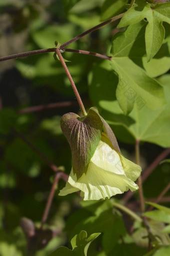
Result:
[[[142,182],[147,179],[147,177],[152,173],[152,171],[159,165],[159,163],[170,154],[170,148],[165,149],[160,155],[158,155],[155,160],[146,168],[146,170],[141,175]],[[123,197],[123,201],[127,202],[133,195],[134,192],[128,191]]]

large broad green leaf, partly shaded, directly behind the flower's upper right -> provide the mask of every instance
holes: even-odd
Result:
[[[128,116],[122,114],[115,99],[117,77],[107,61],[93,67],[89,80],[90,98],[100,109],[102,117],[111,125],[118,140],[126,143],[140,140],[165,148],[170,147],[170,75],[159,78],[167,101],[163,107],[150,110],[145,105],[145,99],[138,97]]]

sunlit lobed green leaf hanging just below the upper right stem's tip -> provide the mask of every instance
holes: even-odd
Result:
[[[124,114],[131,112],[140,97],[144,98],[146,106],[152,110],[165,103],[161,85],[129,58],[113,58],[111,66],[119,76],[116,98]]]

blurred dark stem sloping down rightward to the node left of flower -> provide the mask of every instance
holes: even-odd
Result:
[[[23,142],[25,142],[34,152],[36,152],[46,163],[47,165],[54,171],[58,172],[58,168],[56,165],[52,164],[49,159],[47,159],[32,143],[30,143],[22,134],[18,133],[15,129],[11,128],[12,132],[19,137]]]

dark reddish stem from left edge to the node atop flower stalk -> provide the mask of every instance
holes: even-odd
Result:
[[[40,54],[40,53],[47,53],[47,52],[56,52],[56,48],[48,48],[48,49],[40,49],[40,50],[34,50],[30,52],[22,52],[22,53],[16,53],[12,55],[8,55],[5,57],[0,57],[0,61],[3,60],[10,60],[10,59],[17,59],[20,57],[26,57],[30,55]]]

